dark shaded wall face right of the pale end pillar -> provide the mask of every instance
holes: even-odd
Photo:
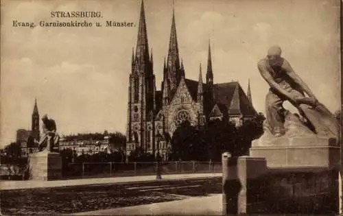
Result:
[[[248,213],[338,212],[338,171],[270,169],[246,181]]]

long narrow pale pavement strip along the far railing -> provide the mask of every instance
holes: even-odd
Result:
[[[173,174],[163,175],[161,180],[156,180],[154,176],[128,176],[128,177],[111,177],[111,178],[84,178],[73,180],[26,180],[14,181],[5,180],[0,182],[0,190],[17,190],[17,189],[36,189],[36,188],[53,188],[53,187],[68,187],[80,186],[89,184],[120,184],[132,182],[151,182],[151,181],[165,181],[165,180],[185,180],[189,178],[213,178],[221,177],[222,173],[189,173],[189,174]]]

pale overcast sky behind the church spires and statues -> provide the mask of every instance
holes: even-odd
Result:
[[[257,71],[257,61],[270,45],[277,44],[318,99],[334,112],[340,108],[339,3],[175,0],[186,76],[198,80],[200,62],[206,68],[210,39],[214,82],[238,80],[246,91],[250,78],[253,104],[264,112],[268,85]],[[30,29],[12,27],[12,21],[53,21],[51,11],[91,10],[102,12],[104,18],[98,21],[138,25],[141,1],[8,0],[1,4],[0,147],[15,140],[17,129],[31,128],[35,97],[40,117],[47,113],[55,119],[60,134],[125,132],[128,76],[138,26]],[[158,89],[171,8],[169,0],[145,0]]]

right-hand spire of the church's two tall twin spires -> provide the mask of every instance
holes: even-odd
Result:
[[[171,88],[176,88],[176,85],[181,80],[180,74],[180,58],[178,56],[178,38],[176,36],[175,13],[171,18],[171,31],[169,38],[169,50],[167,58],[168,77],[171,81]]]

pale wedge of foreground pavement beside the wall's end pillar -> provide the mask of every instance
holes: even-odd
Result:
[[[222,194],[72,215],[222,215]]]

